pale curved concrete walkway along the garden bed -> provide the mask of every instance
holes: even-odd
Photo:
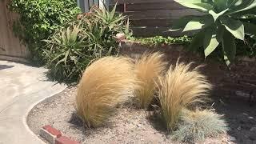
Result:
[[[66,88],[47,81],[46,69],[0,61],[0,144],[44,143],[26,125],[38,102]]]

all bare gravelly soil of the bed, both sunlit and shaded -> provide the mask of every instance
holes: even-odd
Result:
[[[179,143],[172,141],[162,124],[149,118],[145,110],[132,106],[118,107],[117,114],[106,126],[87,129],[75,114],[75,94],[76,87],[70,87],[35,106],[27,118],[30,129],[40,137],[40,128],[52,125],[81,143]],[[230,131],[199,143],[256,143],[255,106],[239,99],[214,98],[213,101],[218,113],[225,114]]]

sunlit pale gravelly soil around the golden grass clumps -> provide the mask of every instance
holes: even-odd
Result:
[[[39,136],[42,126],[52,125],[82,143],[175,143],[146,111],[129,105],[118,107],[118,114],[110,118],[106,126],[86,129],[75,116],[75,95],[76,87],[71,87],[35,106],[27,119],[30,129]],[[227,143],[229,139],[223,134],[207,139],[206,143]]]

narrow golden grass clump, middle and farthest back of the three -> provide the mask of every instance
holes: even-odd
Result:
[[[138,80],[138,89],[135,90],[135,96],[139,107],[147,108],[154,98],[156,89],[156,80],[166,70],[166,62],[163,60],[164,54],[159,52],[149,54],[145,53],[142,58],[135,62],[134,70]]]

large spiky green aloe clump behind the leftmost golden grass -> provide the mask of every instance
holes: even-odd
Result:
[[[126,17],[94,7],[78,15],[50,36],[44,50],[48,75],[54,80],[76,82],[87,64],[94,58],[117,55],[114,36],[126,30]]]

